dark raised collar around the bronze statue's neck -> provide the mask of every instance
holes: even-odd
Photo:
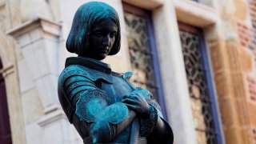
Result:
[[[99,70],[103,73],[110,74],[111,69],[110,65],[106,64],[104,62],[100,62],[98,60],[92,59],[92,58],[84,58],[84,57],[70,57],[66,58],[66,66],[70,65],[81,65],[86,66],[90,69]]]

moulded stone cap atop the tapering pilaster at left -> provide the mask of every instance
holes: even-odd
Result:
[[[20,37],[22,34],[29,33],[32,30],[42,28],[42,31],[46,34],[54,35],[55,37],[60,36],[61,25],[56,22],[44,18],[35,18],[32,21],[24,22],[19,26],[8,30],[6,34],[13,36],[14,38]]]

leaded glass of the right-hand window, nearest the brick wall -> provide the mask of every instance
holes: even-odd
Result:
[[[190,91],[190,104],[198,144],[217,143],[214,116],[211,110],[210,87],[206,82],[206,69],[202,58],[200,37],[186,30],[179,30]]]

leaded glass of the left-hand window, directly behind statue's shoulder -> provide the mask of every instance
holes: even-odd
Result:
[[[134,72],[131,80],[136,86],[150,90],[154,97],[158,98],[147,19],[126,11],[124,16],[131,68]]]

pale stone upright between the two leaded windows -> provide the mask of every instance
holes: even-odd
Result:
[[[174,130],[174,141],[195,144],[190,95],[173,1],[162,1],[162,6],[153,12],[153,21],[166,112]]]

